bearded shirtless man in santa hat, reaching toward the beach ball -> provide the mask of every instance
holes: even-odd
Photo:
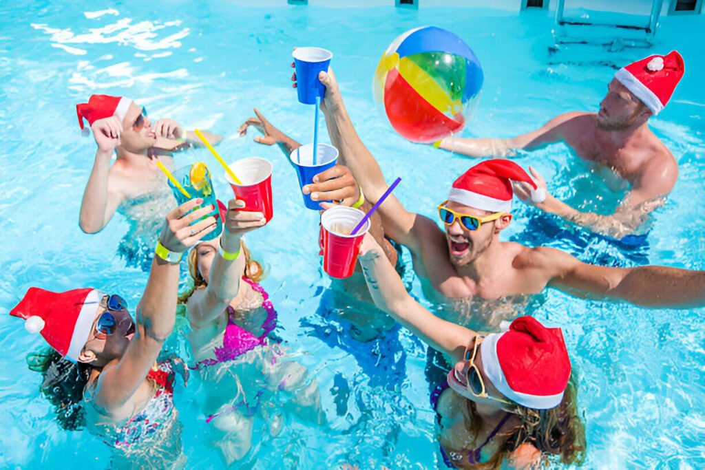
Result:
[[[661,206],[678,178],[678,163],[666,145],[651,132],[648,120],[658,114],[683,75],[683,59],[676,51],[649,56],[615,73],[599,113],[573,111],[548,121],[544,127],[511,139],[446,137],[437,142],[467,156],[505,157],[517,150],[535,150],[563,142],[583,159],[615,173],[630,191],[614,214],[581,212],[548,194],[539,209],[613,238],[623,238],[643,225]],[[529,168],[539,185],[546,183]],[[527,186],[517,188],[527,200]]]

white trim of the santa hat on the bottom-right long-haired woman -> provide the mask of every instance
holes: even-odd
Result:
[[[506,332],[505,332],[506,333]],[[497,342],[505,333],[492,333],[487,335],[482,345],[480,346],[480,354],[482,354],[482,368],[485,376],[494,385],[502,395],[509,400],[521,404],[522,406],[533,409],[551,409],[555,408],[563,400],[563,392],[557,395],[529,395],[527,393],[515,392],[507,383],[502,367],[499,364],[497,355]]]

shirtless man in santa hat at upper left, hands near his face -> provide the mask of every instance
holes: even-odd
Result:
[[[160,119],[152,125],[145,109],[128,98],[92,95],[88,103],[76,106],[76,112],[81,128],[83,119],[88,121],[98,146],[81,202],[81,230],[99,232],[121,205],[132,223],[152,225],[140,220],[149,218],[152,212],[154,221],[161,220],[160,214],[173,209],[176,200],[155,160],[171,169],[173,161],[168,152],[190,144],[192,137],[172,119]],[[214,138],[213,143],[221,140],[211,133],[206,137]],[[117,159],[111,167],[114,151]],[[135,206],[142,205],[139,202],[154,210],[143,207],[135,211]]]

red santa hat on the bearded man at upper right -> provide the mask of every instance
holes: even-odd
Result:
[[[615,78],[656,116],[668,103],[684,71],[683,58],[670,51],[666,56],[649,56],[630,63],[620,68]]]

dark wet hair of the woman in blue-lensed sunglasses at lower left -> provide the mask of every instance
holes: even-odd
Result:
[[[88,383],[91,366],[74,364],[51,348],[30,352],[26,361],[31,371],[44,376],[39,391],[54,405],[59,426],[67,431],[80,431],[84,428],[83,390]]]

